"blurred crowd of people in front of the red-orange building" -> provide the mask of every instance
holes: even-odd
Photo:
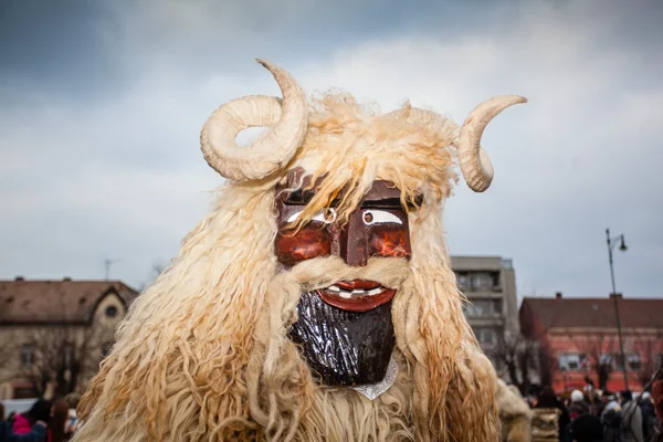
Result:
[[[544,388],[524,399],[533,411],[535,442],[663,442],[663,381],[651,392],[601,391],[588,382],[569,396]]]

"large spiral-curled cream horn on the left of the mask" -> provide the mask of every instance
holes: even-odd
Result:
[[[278,83],[281,99],[255,95],[233,99],[219,107],[200,133],[200,148],[208,164],[221,176],[243,181],[260,179],[283,167],[302,144],[308,124],[306,95],[284,70],[256,60]],[[238,146],[235,138],[248,127],[270,127],[253,144]]]

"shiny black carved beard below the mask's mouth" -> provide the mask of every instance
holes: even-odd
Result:
[[[288,336],[323,385],[360,386],[385,378],[396,345],[391,301],[354,313],[325,304],[317,292],[308,292],[302,294],[297,314]]]

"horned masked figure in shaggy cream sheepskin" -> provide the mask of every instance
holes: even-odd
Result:
[[[76,441],[494,441],[495,372],[463,315],[441,210],[484,191],[485,125],[350,96],[250,96],[203,126],[229,181],[133,305]],[[235,137],[263,133],[249,146]]]

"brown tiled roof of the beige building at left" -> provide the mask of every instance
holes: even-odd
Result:
[[[126,305],[138,296],[119,281],[0,281],[0,325],[86,322],[108,293]]]

